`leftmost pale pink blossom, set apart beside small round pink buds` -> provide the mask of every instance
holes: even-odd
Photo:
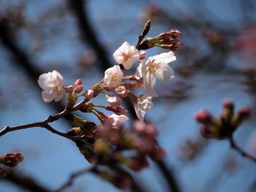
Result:
[[[37,82],[43,89],[43,101],[50,102],[54,99],[57,102],[64,97],[64,78],[58,71],[53,70],[52,72],[43,73],[39,76]]]

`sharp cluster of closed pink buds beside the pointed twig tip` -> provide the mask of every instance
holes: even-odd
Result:
[[[141,44],[140,50],[147,50],[154,46],[165,48],[171,51],[177,51],[183,43],[180,43],[179,37],[181,37],[181,32],[177,29],[171,29],[169,32],[161,33],[156,37],[147,37]]]

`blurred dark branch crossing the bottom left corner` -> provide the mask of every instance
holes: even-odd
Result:
[[[45,186],[38,184],[35,179],[30,176],[22,175],[13,169],[8,169],[8,174],[3,179],[32,192],[51,192],[51,190],[46,189]]]

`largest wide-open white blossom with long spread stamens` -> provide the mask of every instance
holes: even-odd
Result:
[[[137,80],[144,77],[144,88],[146,91],[151,91],[155,86],[156,77],[164,82],[169,82],[174,78],[174,71],[167,63],[175,60],[173,51],[149,57],[147,61],[142,61],[137,67],[135,77]]]

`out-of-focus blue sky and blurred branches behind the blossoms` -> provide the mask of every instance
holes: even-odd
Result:
[[[84,89],[91,88],[107,68],[116,65],[112,53],[123,42],[136,45],[148,19],[151,28],[147,37],[173,28],[183,33],[180,42],[184,46],[175,52],[177,60],[170,63],[175,78],[169,83],[156,82],[159,97],[145,116],[157,126],[157,141],[166,151],[164,169],[171,181],[184,192],[255,192],[255,163],[230,149],[227,140],[205,140],[192,117],[200,109],[219,116],[225,98],[234,101],[235,111],[249,106],[252,117],[239,127],[234,139],[256,157],[253,0],[0,1],[1,129],[42,121],[61,112],[65,99],[43,102],[38,77],[57,70],[65,78],[65,86],[81,78]],[[147,57],[166,51],[154,47],[147,50]],[[136,64],[125,75],[135,71]],[[142,92],[145,90],[136,94]],[[104,97],[94,101],[106,105]],[[134,119],[132,102],[122,106],[132,111],[130,122],[125,124],[129,127]],[[82,117],[99,125],[90,114]],[[65,120],[51,125],[62,132],[71,128]],[[6,170],[9,176],[0,179],[0,191],[54,191],[70,174],[89,165],[72,141],[38,127],[0,138],[0,155],[16,151],[24,161]],[[150,164],[150,168],[132,173],[137,183],[149,192],[171,191],[163,169]],[[92,174],[77,178],[66,189],[102,190],[120,191]]]

